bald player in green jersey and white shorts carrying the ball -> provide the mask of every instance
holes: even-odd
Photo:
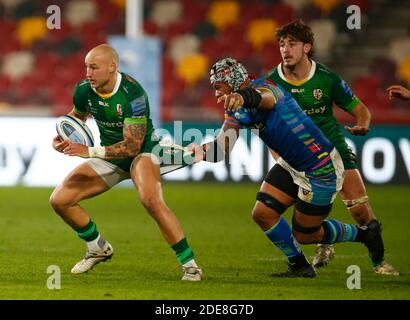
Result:
[[[132,179],[142,204],[157,222],[162,235],[182,265],[182,280],[202,279],[202,270],[184,236],[175,214],[164,202],[159,159],[153,154],[158,139],[153,135],[147,94],[129,75],[118,71],[118,54],[102,44],[85,57],[86,80],[74,89],[74,107],[69,115],[97,123],[101,145],[87,147],[53,139],[53,147],[69,156],[91,158],[75,168],[50,197],[51,206],[86,241],[85,258],[71,270],[83,273],[110,259],[113,247],[97,231],[95,223],[79,205],[125,179]]]

